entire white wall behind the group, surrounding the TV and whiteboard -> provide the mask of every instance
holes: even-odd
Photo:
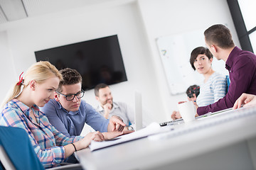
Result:
[[[134,106],[134,90],[142,91],[146,123],[169,120],[185,94],[170,95],[155,40],[162,35],[205,30],[215,23],[227,24],[238,44],[227,2],[222,0],[139,0],[1,24],[0,47],[5,52],[0,54],[0,76],[8,78],[2,81],[6,86],[1,85],[0,100],[11,81],[36,62],[34,51],[117,34],[128,81],[111,86],[114,100]],[[92,90],[84,99],[92,106],[97,104]]]

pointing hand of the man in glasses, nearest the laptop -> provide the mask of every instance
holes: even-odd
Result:
[[[113,131],[122,132],[125,126],[126,125],[124,124],[122,118],[119,118],[117,115],[113,115],[110,118],[109,125],[107,126],[107,132],[113,132]]]

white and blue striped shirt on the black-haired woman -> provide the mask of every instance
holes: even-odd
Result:
[[[196,98],[199,107],[208,106],[223,98],[227,91],[226,78],[217,72],[210,75],[208,81],[200,86],[200,94]]]

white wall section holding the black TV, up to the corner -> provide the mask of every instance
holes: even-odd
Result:
[[[144,28],[138,15],[136,4],[130,3],[76,8],[5,24],[12,52],[10,57],[14,59],[16,67],[14,72],[17,76],[14,79],[18,80],[18,75],[36,62],[34,51],[117,34],[128,81],[111,86],[114,99],[134,106],[134,90],[139,90],[142,92],[144,110],[153,116],[149,122],[159,121],[153,113],[164,111],[161,107],[154,107],[161,106],[161,98],[151,70],[152,62],[147,60],[149,48],[144,45]],[[151,89],[156,90],[151,93]],[[153,102],[151,98],[158,99]],[[86,92],[84,99],[93,106],[97,103],[92,90]]]

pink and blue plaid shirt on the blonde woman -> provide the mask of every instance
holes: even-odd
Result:
[[[36,121],[29,116],[31,111],[34,112]],[[82,139],[82,137],[66,137],[49,123],[48,118],[39,111],[38,106],[34,105],[32,108],[28,108],[17,99],[9,101],[1,111],[0,125],[26,130],[31,144],[44,167],[63,162],[65,160],[63,146]]]

